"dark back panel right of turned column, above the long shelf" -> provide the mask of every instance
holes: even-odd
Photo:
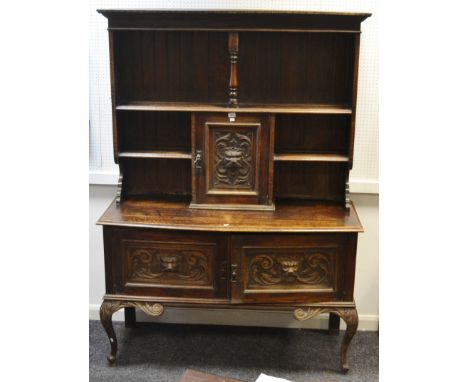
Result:
[[[239,102],[350,105],[354,35],[241,33]]]

